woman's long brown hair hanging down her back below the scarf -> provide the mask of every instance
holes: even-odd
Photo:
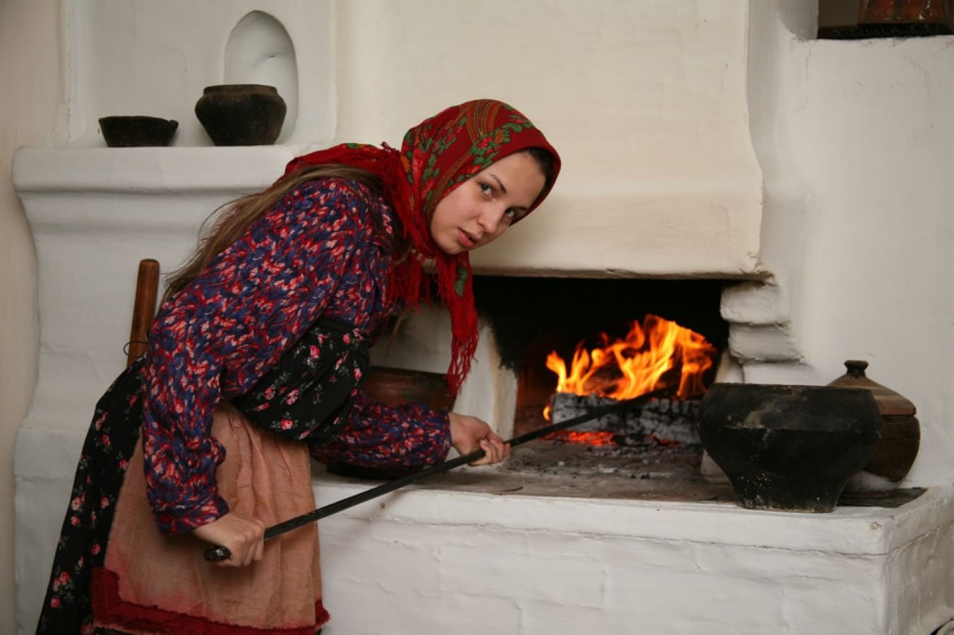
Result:
[[[162,294],[162,301],[169,301],[195,280],[216,256],[245,234],[252,223],[267,214],[289,192],[292,192],[305,181],[329,177],[355,180],[373,193],[383,194],[381,179],[376,175],[365,172],[360,168],[327,163],[292,174],[285,174],[267,190],[242,196],[225,203],[202,223],[196,250],[181,267],[169,275],[168,285]],[[379,224],[380,226],[377,229],[384,231],[383,219],[375,217],[371,219],[371,222]],[[400,234],[400,230],[394,233],[395,236]],[[396,254],[403,257],[406,252],[406,249],[401,248],[403,243],[396,240],[396,246],[399,248]]]

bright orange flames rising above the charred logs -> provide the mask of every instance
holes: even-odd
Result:
[[[547,368],[556,373],[556,392],[633,399],[676,382],[678,399],[705,392],[702,376],[712,367],[716,348],[694,331],[650,315],[642,325],[633,321],[626,338],[611,342],[605,333],[600,338],[602,346],[591,350],[584,342],[576,345],[569,372],[563,358],[550,353]]]

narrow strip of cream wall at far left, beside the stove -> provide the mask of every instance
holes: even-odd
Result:
[[[54,141],[65,122],[53,0],[0,2],[0,632],[16,625],[13,578],[13,438],[36,379],[33,241],[10,180],[13,151]]]

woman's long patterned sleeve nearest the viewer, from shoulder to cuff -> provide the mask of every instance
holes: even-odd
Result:
[[[160,531],[177,534],[228,511],[212,438],[223,383],[250,387],[321,315],[369,229],[346,181],[286,195],[154,321],[144,373],[146,485]]]

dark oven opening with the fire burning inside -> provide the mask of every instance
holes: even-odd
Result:
[[[661,391],[640,408],[514,448],[507,469],[583,487],[602,481],[593,496],[621,478],[658,481],[655,489],[700,483],[695,422],[728,342],[723,284],[475,277],[478,308],[518,378],[514,436]]]

